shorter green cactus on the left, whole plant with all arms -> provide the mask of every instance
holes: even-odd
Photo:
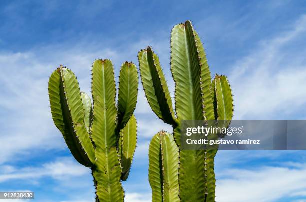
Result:
[[[117,106],[110,60],[94,61],[91,88],[93,107],[90,97],[80,92],[74,73],[57,68],[48,87],[53,121],[74,158],[91,168],[96,202],[122,202],[121,180],[128,177],[136,148],[137,68],[123,63]]]

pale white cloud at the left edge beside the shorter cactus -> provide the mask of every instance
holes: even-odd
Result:
[[[43,75],[50,70],[31,53],[0,54],[0,66],[9,67],[2,68],[0,75],[0,141],[6,143],[0,148],[0,162],[29,148],[54,148],[55,139],[62,141],[50,134],[47,76]]]

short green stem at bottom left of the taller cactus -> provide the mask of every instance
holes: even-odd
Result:
[[[172,134],[160,131],[152,138],[149,146],[152,202],[180,202],[178,155],[178,147]]]

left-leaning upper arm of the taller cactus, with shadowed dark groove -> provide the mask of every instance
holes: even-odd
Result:
[[[138,60],[142,85],[148,103],[160,119],[174,125],[172,99],[158,56],[148,47],[138,53]]]

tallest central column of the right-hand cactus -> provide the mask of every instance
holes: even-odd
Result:
[[[171,71],[175,81],[175,108],[179,120],[204,118],[200,82],[201,61],[195,34],[190,21],[174,26],[171,33]],[[176,143],[179,139],[176,131]],[[179,160],[180,199],[183,202],[203,200],[206,182],[205,152],[181,150]]]

